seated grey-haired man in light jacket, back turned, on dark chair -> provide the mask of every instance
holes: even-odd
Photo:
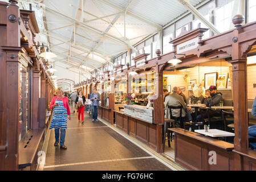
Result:
[[[178,87],[177,86],[174,86],[172,92],[173,93],[169,94],[169,96],[167,96],[165,99],[164,106],[165,106],[165,109],[167,109],[165,118],[170,119],[168,106],[182,106],[181,117],[185,117],[186,111],[191,110],[191,107],[187,107],[182,96],[178,95]],[[175,120],[175,127],[181,127],[181,125],[180,125],[181,121],[177,121],[177,118],[180,117],[180,109],[172,109],[172,116],[174,117],[174,120]]]

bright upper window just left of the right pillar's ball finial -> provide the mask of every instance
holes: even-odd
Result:
[[[218,31],[225,32],[230,29],[230,25],[233,18],[232,17],[233,7],[234,7],[234,1],[227,3],[226,5],[219,7],[216,10],[216,27]]]

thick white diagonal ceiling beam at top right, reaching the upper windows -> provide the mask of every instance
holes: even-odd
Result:
[[[193,5],[190,4],[189,0],[178,0],[180,3],[182,3],[183,6],[186,7],[193,15],[195,15],[198,19],[201,20],[207,27],[210,28],[215,34],[220,34],[220,31],[217,30],[217,28],[209,22]]]

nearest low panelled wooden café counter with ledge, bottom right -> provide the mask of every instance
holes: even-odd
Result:
[[[189,170],[233,170],[234,144],[181,128],[175,133],[175,162]]]

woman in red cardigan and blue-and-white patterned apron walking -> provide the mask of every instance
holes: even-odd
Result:
[[[52,115],[52,121],[50,129],[55,129],[55,143],[54,146],[58,146],[59,143],[59,130],[60,130],[60,149],[66,150],[64,146],[66,129],[67,129],[67,118],[71,120],[70,106],[68,106],[68,98],[63,97],[63,89],[59,87],[56,90],[57,96],[51,100],[51,109],[54,109]]]

